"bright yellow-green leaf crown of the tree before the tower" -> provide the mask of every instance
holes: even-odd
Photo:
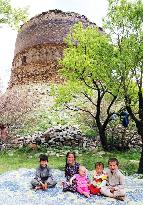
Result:
[[[66,43],[68,48],[65,49],[61,61],[64,66],[62,74],[65,77],[69,80],[84,78],[91,86],[92,79],[109,80],[114,67],[114,62],[109,59],[112,60],[114,48],[108,35],[99,32],[98,28],[83,28],[82,23],[79,23],[74,26]]]

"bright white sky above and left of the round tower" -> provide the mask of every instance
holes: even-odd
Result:
[[[85,15],[90,21],[102,27],[106,15],[107,0],[11,0],[13,7],[28,7],[29,17],[43,11],[60,9]],[[5,91],[10,78],[17,32],[8,26],[0,27],[0,78]]]

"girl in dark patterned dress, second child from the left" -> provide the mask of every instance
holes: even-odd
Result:
[[[69,183],[69,180],[71,177],[73,177],[74,174],[77,174],[79,170],[79,163],[76,162],[76,156],[74,152],[68,152],[66,155],[66,165],[65,165],[65,177],[66,182],[63,182],[63,191],[76,191],[76,184],[75,181],[73,181],[72,184]]]

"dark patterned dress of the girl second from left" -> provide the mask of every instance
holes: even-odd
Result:
[[[76,181],[73,180],[72,185],[70,185],[69,180],[71,177],[73,177],[74,174],[78,174],[80,164],[75,162],[73,166],[70,166],[69,164],[66,164],[65,166],[65,177],[66,182],[63,183],[63,191],[71,191],[76,192]]]

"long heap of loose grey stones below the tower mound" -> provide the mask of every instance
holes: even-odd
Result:
[[[56,126],[49,128],[46,132],[35,133],[27,136],[12,137],[6,144],[6,148],[16,147],[35,147],[44,145],[45,147],[64,147],[83,148],[93,150],[97,147],[98,141],[94,138],[84,136],[79,129],[71,126]]]

